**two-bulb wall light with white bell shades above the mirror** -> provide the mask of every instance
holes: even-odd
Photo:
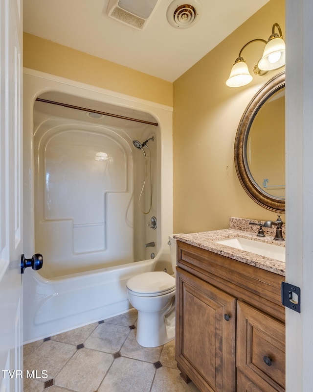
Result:
[[[275,33],[277,27],[279,34]],[[238,57],[230,71],[230,75],[226,81],[228,87],[241,87],[250,83],[253,79],[249,73],[245,60],[241,56],[242,51],[250,44],[256,41],[261,41],[265,44],[265,49],[262,58],[254,67],[253,72],[256,75],[264,75],[271,70],[277,70],[285,65],[285,42],[282,38],[282,30],[278,23],[272,26],[272,34],[269,36],[268,41],[262,38],[256,38],[246,43],[239,52]]]

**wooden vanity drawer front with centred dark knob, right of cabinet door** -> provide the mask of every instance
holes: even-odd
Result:
[[[285,391],[285,324],[237,303],[237,369],[262,390]]]

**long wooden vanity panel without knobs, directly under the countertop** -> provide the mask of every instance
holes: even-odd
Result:
[[[177,266],[284,322],[284,277],[178,241]]]

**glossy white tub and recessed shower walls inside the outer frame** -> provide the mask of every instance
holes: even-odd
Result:
[[[51,97],[34,102],[28,140],[34,252],[44,266],[24,273],[25,342],[128,311],[130,277],[171,269],[162,240],[171,227],[162,236],[159,226],[160,126],[151,115],[134,122]],[[27,132],[24,140],[27,149]]]

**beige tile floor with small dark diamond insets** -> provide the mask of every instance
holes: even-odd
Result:
[[[137,343],[136,319],[132,311],[25,344],[24,392],[199,392],[179,376],[174,341]]]

